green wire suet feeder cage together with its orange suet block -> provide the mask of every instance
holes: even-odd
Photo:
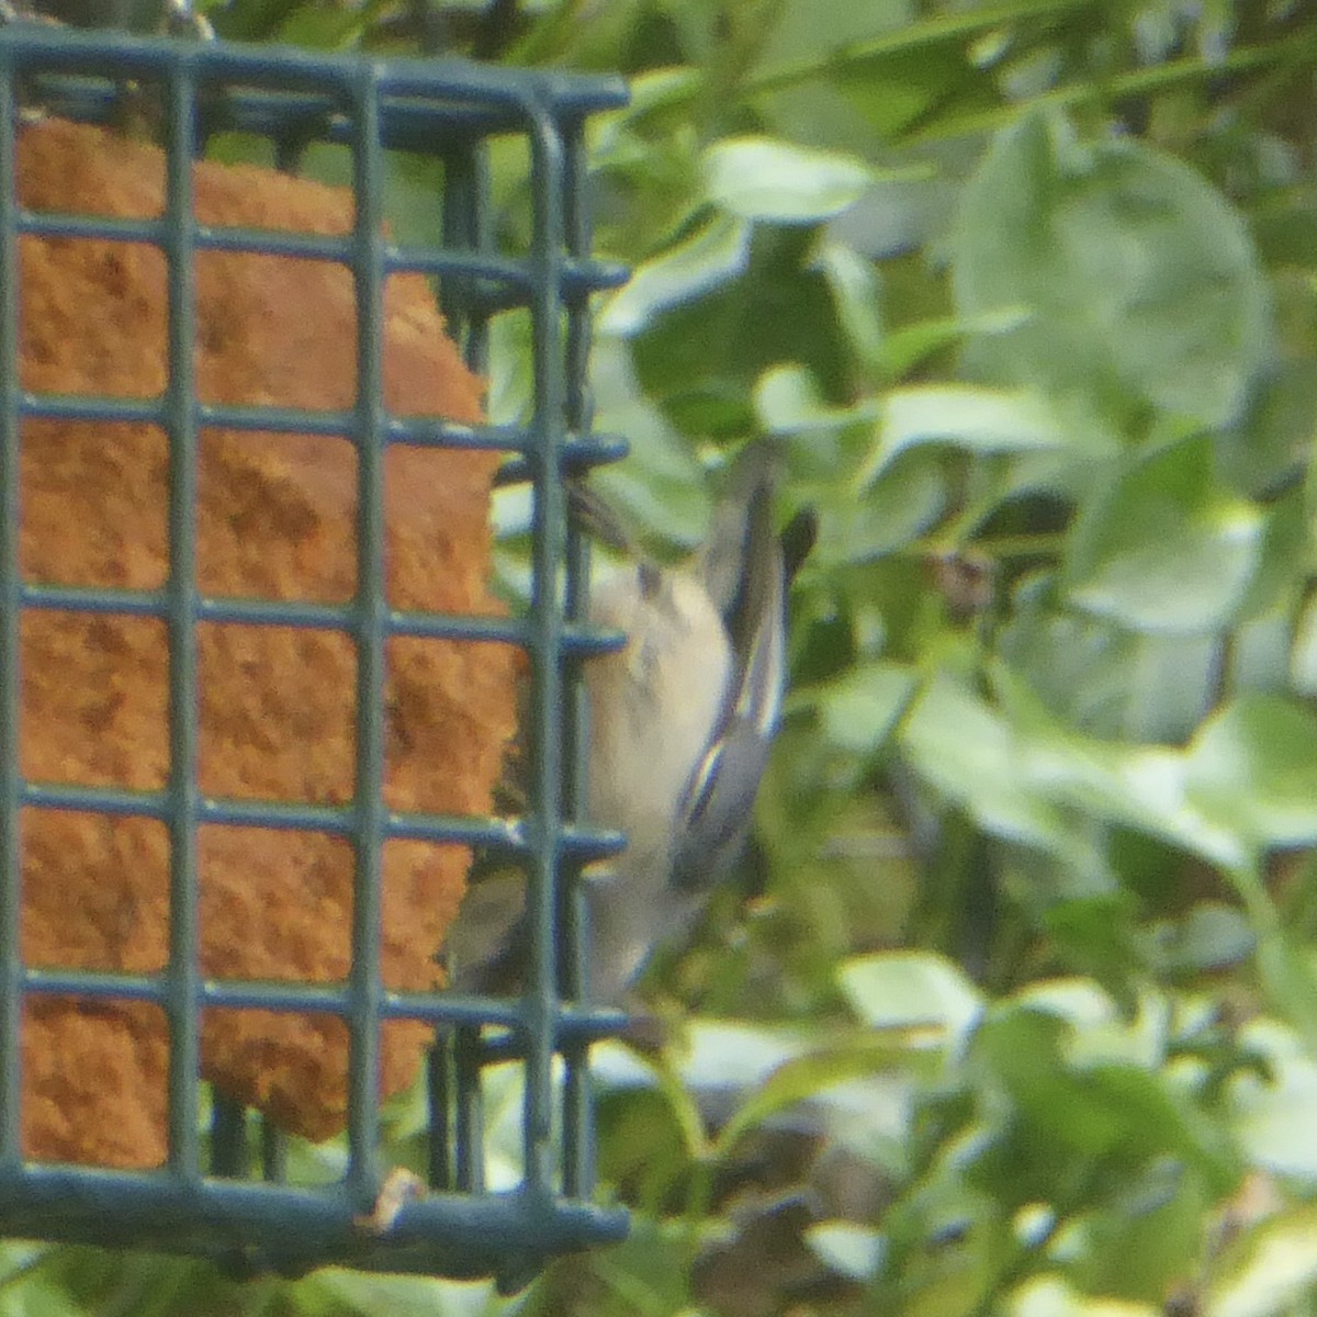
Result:
[[[585,386],[620,271],[590,254],[583,138],[623,101],[450,58],[0,29],[4,1235],[507,1289],[624,1233],[593,1201],[586,1073],[619,1021],[573,1005],[573,877],[618,839],[577,822],[606,640],[564,491],[622,446]],[[527,165],[520,238],[491,150]],[[533,383],[493,424],[504,315]],[[489,591],[495,479],[532,490],[520,615]],[[499,818],[518,680],[527,803]],[[506,1000],[433,960],[474,849],[528,880]],[[522,1155],[491,1189],[500,1059]],[[399,1180],[382,1104],[419,1071]],[[341,1175],[299,1176],[288,1130],[344,1130]]]

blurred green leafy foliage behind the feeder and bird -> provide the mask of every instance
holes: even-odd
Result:
[[[1317,7],[211,18],[628,75],[590,142],[635,271],[608,491],[680,551],[768,435],[822,536],[755,861],[647,981],[664,1048],[599,1048],[628,1243],[514,1300],[9,1246],[0,1309],[1313,1310]],[[524,161],[491,165],[515,241]]]

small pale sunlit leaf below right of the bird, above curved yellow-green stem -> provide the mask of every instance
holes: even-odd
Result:
[[[950,1046],[964,1040],[984,1009],[956,965],[925,952],[856,956],[838,968],[838,984],[869,1027],[932,1030]]]

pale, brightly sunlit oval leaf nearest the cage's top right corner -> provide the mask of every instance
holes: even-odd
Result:
[[[880,176],[864,161],[772,137],[726,137],[705,151],[709,199],[743,220],[817,224],[863,196]]]

